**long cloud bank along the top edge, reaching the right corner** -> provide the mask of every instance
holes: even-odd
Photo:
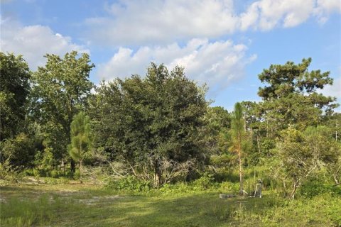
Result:
[[[247,29],[289,28],[340,13],[340,0],[259,0],[236,13],[233,0],[141,0],[107,4],[109,16],[87,18],[87,36],[103,45],[155,45],[222,38]]]

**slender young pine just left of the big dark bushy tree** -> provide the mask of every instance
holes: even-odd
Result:
[[[86,157],[90,157],[90,148],[92,140],[90,136],[90,118],[84,113],[73,117],[71,123],[71,143],[69,145],[69,154],[73,160],[80,162],[80,183],[82,184],[82,165]]]

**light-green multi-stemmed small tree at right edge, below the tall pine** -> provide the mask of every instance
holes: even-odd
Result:
[[[340,179],[340,167],[337,167],[340,165],[340,144],[332,140],[330,129],[325,126],[310,126],[304,132],[289,128],[282,132],[277,150],[281,169],[291,180],[291,199],[298,187],[321,167],[326,166],[334,179]]]

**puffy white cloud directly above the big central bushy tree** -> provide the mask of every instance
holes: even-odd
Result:
[[[226,87],[244,75],[244,67],[255,60],[247,56],[247,46],[231,40],[210,43],[207,39],[192,39],[184,47],[177,43],[167,46],[144,46],[136,50],[119,48],[109,62],[99,65],[98,76],[105,79],[144,75],[150,62],[164,63],[169,69],[185,67],[185,73],[200,84],[207,83],[211,92]]]

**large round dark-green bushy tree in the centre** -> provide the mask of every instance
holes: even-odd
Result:
[[[90,104],[96,148],[154,187],[188,176],[206,159],[205,91],[180,67],[152,64],[144,78],[103,83]]]

